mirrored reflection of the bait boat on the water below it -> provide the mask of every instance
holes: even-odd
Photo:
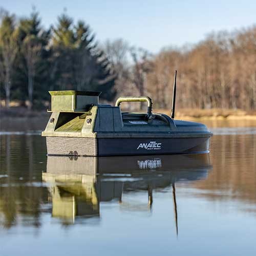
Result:
[[[57,157],[48,156],[48,183],[52,216],[65,223],[77,217],[99,217],[100,202],[114,199],[121,207],[145,209],[143,205],[122,202],[123,192],[147,190],[146,208],[151,209],[156,188],[173,187],[177,226],[175,183],[205,179],[211,169],[209,154],[158,155],[128,157]],[[144,206],[145,206],[144,205]],[[178,231],[178,229],[177,229]]]

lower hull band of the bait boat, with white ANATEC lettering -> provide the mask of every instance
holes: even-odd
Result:
[[[48,155],[121,156],[208,153],[210,136],[172,138],[47,137]]]

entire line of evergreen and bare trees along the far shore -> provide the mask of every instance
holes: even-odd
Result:
[[[156,108],[170,108],[174,71],[179,108],[256,109],[256,27],[211,33],[181,48],[151,54],[122,39],[97,44],[83,21],[66,13],[44,29],[38,13],[17,20],[2,14],[1,98],[35,108],[49,90],[96,90],[114,101],[120,95],[148,95]]]

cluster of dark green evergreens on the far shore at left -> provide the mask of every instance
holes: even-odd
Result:
[[[111,100],[115,76],[82,20],[74,24],[63,13],[56,26],[45,29],[35,10],[20,19],[2,11],[0,86],[7,108],[10,100],[38,108],[47,104],[50,90],[102,91]]]

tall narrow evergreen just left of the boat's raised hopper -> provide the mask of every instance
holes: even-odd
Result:
[[[44,98],[39,94],[47,90],[49,69],[47,46],[49,38],[50,30],[42,29],[38,13],[35,10],[33,10],[29,18],[20,20],[18,26],[18,40],[20,43],[19,65],[22,66],[20,71],[23,72],[23,78],[27,80],[24,84],[27,84],[29,109],[32,108],[34,97]],[[34,90],[35,87],[37,90]]]

